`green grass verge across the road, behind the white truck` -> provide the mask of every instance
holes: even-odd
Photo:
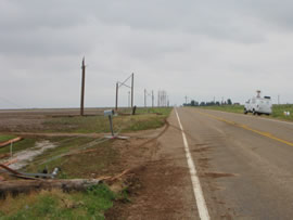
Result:
[[[215,109],[230,113],[240,113],[243,114],[243,105],[220,105],[220,106],[204,106],[203,109]],[[284,116],[284,112],[290,112],[290,116]],[[272,114],[270,116],[263,116],[269,118],[278,118],[282,120],[293,121],[293,104],[285,105],[272,105]]]

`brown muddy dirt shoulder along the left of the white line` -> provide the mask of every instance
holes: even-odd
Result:
[[[122,165],[131,168],[123,180],[129,199],[116,200],[106,219],[196,219],[181,133],[168,126],[162,130],[160,138],[114,143],[123,145]]]

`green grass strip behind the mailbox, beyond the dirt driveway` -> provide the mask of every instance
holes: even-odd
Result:
[[[138,108],[136,115],[118,115],[113,117],[114,131],[138,131],[155,129],[165,124],[173,108]],[[122,112],[127,112],[123,109]],[[50,118],[43,122],[46,132],[110,132],[107,117],[75,116]]]

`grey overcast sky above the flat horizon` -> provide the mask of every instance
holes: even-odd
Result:
[[[114,106],[131,73],[137,105],[144,88],[178,105],[243,103],[258,89],[293,103],[292,11],[289,0],[0,0],[0,108],[78,107],[84,55],[88,107]]]

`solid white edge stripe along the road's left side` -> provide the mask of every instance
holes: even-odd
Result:
[[[196,199],[199,215],[200,215],[201,219],[209,220],[209,215],[208,215],[208,210],[207,210],[207,207],[206,207],[206,204],[205,204],[201,182],[200,182],[200,179],[198,177],[195,165],[193,163],[193,159],[192,159],[190,151],[189,151],[187,137],[186,137],[186,133],[183,131],[183,128],[182,128],[182,125],[181,125],[181,121],[180,121],[180,118],[179,118],[179,115],[178,115],[176,108],[175,108],[175,113],[177,115],[179,127],[180,127],[181,132],[182,132],[182,138],[183,138],[183,143],[184,143],[184,151],[186,151],[187,161],[188,161],[188,166],[189,166],[189,172],[190,172],[190,177],[191,177],[191,182],[192,182],[192,186],[193,186],[193,193],[194,193],[194,196],[195,196],[195,199]]]

